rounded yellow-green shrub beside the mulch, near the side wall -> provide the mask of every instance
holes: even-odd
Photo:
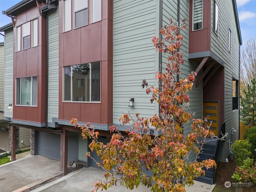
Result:
[[[248,140],[236,140],[232,144],[231,150],[238,166],[241,166],[245,159],[252,156],[252,144]]]

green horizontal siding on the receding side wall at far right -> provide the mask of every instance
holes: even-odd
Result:
[[[232,78],[239,76],[239,40],[236,29],[232,0],[216,0],[219,8],[218,34],[211,31],[211,51],[224,62],[224,121],[226,122],[226,140],[232,142],[231,129],[237,131],[234,140],[239,138],[239,114],[238,110],[232,111]],[[212,21],[213,21],[213,1],[212,1]],[[228,21],[228,22],[227,22]],[[213,22],[211,23],[213,27]],[[231,49],[228,51],[228,31],[231,30]],[[224,144],[221,153],[221,160],[229,155],[228,143]]]

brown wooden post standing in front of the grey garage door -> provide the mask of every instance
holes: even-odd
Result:
[[[63,130],[60,135],[60,171],[68,174],[68,131]]]

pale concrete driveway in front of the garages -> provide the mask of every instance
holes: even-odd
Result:
[[[30,152],[16,155],[16,161],[0,166],[1,192],[91,192],[93,184],[105,180],[104,172],[89,167],[81,168],[66,176],[60,172],[60,162],[43,156],[31,156]],[[195,181],[186,187],[187,192],[212,192],[215,185]],[[106,192],[130,192],[124,186],[112,186]],[[140,185],[134,192],[150,192]]]

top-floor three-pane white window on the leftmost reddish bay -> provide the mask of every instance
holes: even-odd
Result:
[[[38,46],[38,20],[26,22],[16,28],[16,51]]]

